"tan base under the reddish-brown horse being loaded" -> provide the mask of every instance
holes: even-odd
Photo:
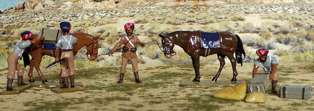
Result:
[[[37,88],[60,88],[63,86],[62,83],[59,82],[48,82],[42,83],[41,81],[34,81],[34,82],[25,82],[26,84],[33,84],[33,87]],[[74,83],[75,87],[80,86],[83,87],[82,83]]]

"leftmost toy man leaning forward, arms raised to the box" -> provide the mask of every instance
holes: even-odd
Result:
[[[18,85],[27,85],[23,82],[23,75],[24,75],[24,69],[19,64],[18,60],[22,57],[22,54],[26,47],[29,47],[31,44],[35,44],[41,40],[44,40],[45,37],[41,36],[38,39],[29,40],[32,36],[32,32],[30,31],[24,31],[21,33],[22,41],[16,43],[16,45],[13,47],[12,51],[10,52],[10,55],[8,56],[8,81],[7,81],[7,91],[13,91],[15,89],[12,89],[12,83],[14,80],[15,70],[18,71]]]

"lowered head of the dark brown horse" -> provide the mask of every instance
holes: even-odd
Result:
[[[173,40],[170,37],[166,37],[163,34],[158,34],[158,36],[161,37],[161,44],[162,44],[162,48],[163,48],[163,52],[166,58],[170,59],[172,56],[176,55],[174,53],[176,53],[176,51],[173,51],[173,47],[175,46],[175,44],[173,43]],[[174,54],[174,55],[172,55]]]

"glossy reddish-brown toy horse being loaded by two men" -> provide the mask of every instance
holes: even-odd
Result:
[[[76,37],[78,39],[77,43],[73,45],[73,54],[74,56],[77,54],[78,50],[81,49],[83,46],[86,46],[87,52],[86,55],[90,55],[91,60],[95,60],[98,54],[98,38],[101,35],[98,35],[96,37],[85,34],[85,33],[70,33],[70,35]],[[38,34],[34,34],[31,38],[31,40],[36,39],[38,37]],[[30,70],[28,72],[28,76],[30,77],[30,82],[35,81],[33,78],[33,69],[37,70],[37,73],[42,80],[43,83],[48,82],[44,76],[41,73],[40,70],[40,63],[42,56],[51,56],[51,57],[56,57],[56,52],[55,50],[47,50],[47,49],[42,49],[42,44],[40,43],[35,43],[32,44],[27,52],[32,56],[33,58],[30,60]],[[59,75],[59,82],[62,83],[62,78],[61,78],[61,73]]]

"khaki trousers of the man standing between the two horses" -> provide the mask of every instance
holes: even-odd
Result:
[[[122,65],[121,65],[120,73],[125,73],[128,60],[131,61],[133,72],[138,72],[139,70],[138,70],[138,64],[137,64],[137,57],[131,59],[131,55],[130,55],[128,58],[125,58],[122,56]]]

